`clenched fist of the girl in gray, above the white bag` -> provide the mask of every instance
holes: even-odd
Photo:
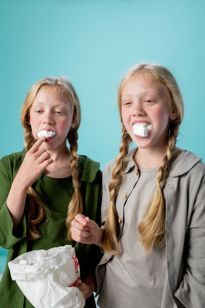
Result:
[[[71,236],[74,241],[83,244],[95,244],[101,247],[103,229],[97,223],[85,217],[82,214],[77,214],[75,219],[71,221]]]

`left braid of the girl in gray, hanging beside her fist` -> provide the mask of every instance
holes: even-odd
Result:
[[[120,154],[116,157],[116,163],[112,170],[112,179],[109,183],[110,204],[108,206],[107,218],[104,225],[102,247],[108,254],[117,255],[119,245],[117,235],[119,233],[118,214],[115,206],[117,194],[124,179],[124,170],[127,165],[126,156],[132,139],[122,124],[122,141],[120,143]]]

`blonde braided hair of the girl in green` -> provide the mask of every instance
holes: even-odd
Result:
[[[31,131],[31,126],[29,124],[29,113],[30,107],[34,102],[34,99],[38,93],[38,91],[45,86],[52,86],[57,91],[65,94],[71,106],[73,107],[73,122],[75,123],[74,128],[70,128],[67,140],[70,144],[70,164],[71,164],[71,174],[72,174],[72,183],[74,188],[73,197],[69,203],[68,214],[65,221],[65,225],[68,229],[67,238],[71,239],[71,221],[74,219],[77,213],[82,213],[83,205],[82,205],[82,196],[79,190],[79,170],[78,170],[78,156],[77,156],[77,140],[78,133],[77,130],[81,123],[81,106],[77,96],[77,93],[70,83],[70,81],[65,77],[49,77],[39,80],[28,92],[26,99],[22,106],[21,111],[21,123],[24,128],[24,140],[25,140],[25,148],[27,151],[32,147],[35,143],[35,138]],[[30,204],[28,211],[28,235],[30,239],[37,239],[41,237],[39,230],[37,228],[37,224],[42,222],[44,219],[48,219],[49,211],[47,207],[42,202],[41,198],[35,192],[34,188],[30,187],[28,189],[28,193],[30,194]]]

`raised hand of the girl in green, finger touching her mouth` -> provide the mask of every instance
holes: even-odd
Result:
[[[42,137],[30,148],[17,173],[16,178],[27,189],[37,180],[45,168],[53,163],[50,154],[41,147],[44,141],[45,137]]]

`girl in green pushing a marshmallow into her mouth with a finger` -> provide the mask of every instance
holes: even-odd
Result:
[[[21,112],[25,148],[0,161],[0,245],[9,249],[7,263],[31,250],[72,245],[85,307],[96,307],[94,273],[100,249],[76,243],[70,231],[77,213],[97,223],[100,218],[100,164],[77,155],[80,122],[79,99],[65,77],[42,79],[28,92]],[[2,307],[32,307],[7,265],[0,301]]]

